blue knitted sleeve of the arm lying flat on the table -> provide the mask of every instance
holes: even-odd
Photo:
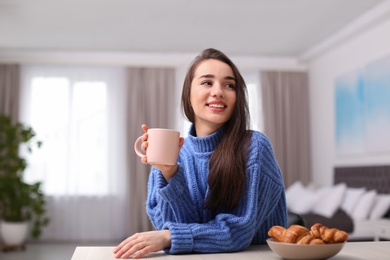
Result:
[[[235,210],[218,213],[206,223],[163,224],[172,238],[167,253],[239,251],[251,243],[265,243],[271,226],[286,226],[283,178],[268,139],[260,133],[252,137],[247,166],[246,192]]]

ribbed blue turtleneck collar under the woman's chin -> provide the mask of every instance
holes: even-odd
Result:
[[[221,127],[217,131],[215,131],[214,133],[208,136],[197,137],[195,126],[192,124],[188,132],[188,137],[186,138],[186,142],[190,142],[195,152],[199,152],[199,153],[213,152],[215,147],[217,147],[217,145],[222,139],[223,129],[224,127]]]

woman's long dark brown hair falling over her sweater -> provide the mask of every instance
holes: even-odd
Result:
[[[245,186],[245,169],[250,140],[249,107],[245,81],[234,63],[215,49],[202,51],[192,62],[183,83],[181,105],[187,119],[195,123],[192,109],[191,83],[195,70],[208,59],[219,60],[230,66],[236,79],[236,104],[231,118],[224,125],[222,139],[210,158],[209,194],[205,202],[207,209],[234,209],[240,202]]]

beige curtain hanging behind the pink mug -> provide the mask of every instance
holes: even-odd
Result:
[[[174,127],[175,71],[170,68],[128,68],[127,78],[128,205],[129,229],[133,234],[152,229],[145,211],[150,167],[135,155],[134,142],[143,134],[143,123],[150,128]]]

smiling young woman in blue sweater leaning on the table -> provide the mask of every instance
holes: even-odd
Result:
[[[282,173],[268,138],[249,130],[246,94],[223,53],[206,49],[195,58],[182,92],[189,135],[177,164],[153,165],[149,176],[146,210],[156,230],[124,240],[116,257],[239,251],[265,243],[272,226],[286,227]]]

